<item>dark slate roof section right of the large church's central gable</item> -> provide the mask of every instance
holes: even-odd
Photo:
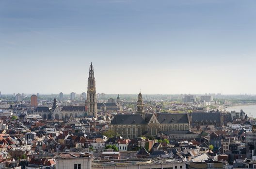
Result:
[[[189,123],[188,116],[185,113],[158,113],[157,119],[160,124]]]

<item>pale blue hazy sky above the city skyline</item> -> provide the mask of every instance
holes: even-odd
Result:
[[[255,0],[0,0],[0,91],[256,94]]]

